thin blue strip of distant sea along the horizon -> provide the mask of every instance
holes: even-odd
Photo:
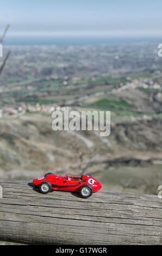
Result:
[[[3,45],[119,45],[119,44],[135,44],[135,43],[158,42],[162,43],[161,38],[147,37],[57,37],[57,36],[7,36]]]

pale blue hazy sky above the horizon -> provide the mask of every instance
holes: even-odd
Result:
[[[10,35],[162,35],[160,0],[1,0]]]

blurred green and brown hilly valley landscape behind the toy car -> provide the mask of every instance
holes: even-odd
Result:
[[[0,178],[88,173],[109,190],[162,184],[158,44],[11,48],[0,79]],[[8,49],[5,48],[5,51]],[[111,111],[111,133],[53,131],[52,108]]]

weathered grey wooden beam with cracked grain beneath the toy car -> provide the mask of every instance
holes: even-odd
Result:
[[[162,245],[162,199],[103,191],[90,198],[2,181],[0,241],[52,245]]]

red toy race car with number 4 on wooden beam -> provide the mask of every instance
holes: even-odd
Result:
[[[101,189],[101,184],[90,175],[71,175],[57,176],[53,173],[46,173],[44,177],[33,180],[33,185],[39,187],[43,194],[52,190],[62,190],[70,192],[79,192],[83,198],[88,198],[93,192]]]

